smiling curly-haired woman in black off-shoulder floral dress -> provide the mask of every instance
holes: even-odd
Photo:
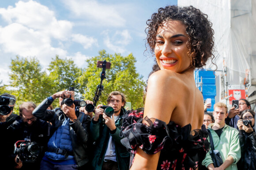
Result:
[[[190,170],[201,165],[209,142],[207,132],[200,130],[204,106],[194,69],[214,58],[211,25],[207,15],[192,6],[159,8],[147,21],[147,47],[156,64],[147,81],[144,110],[124,116],[121,133],[132,153],[132,170]]]

